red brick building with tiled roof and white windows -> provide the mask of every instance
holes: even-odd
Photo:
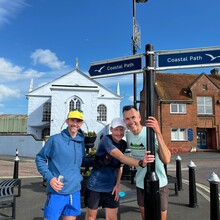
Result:
[[[143,90],[141,100],[144,97]],[[211,74],[156,73],[155,106],[155,116],[171,152],[220,150],[217,68]],[[145,107],[140,108],[143,116]]]

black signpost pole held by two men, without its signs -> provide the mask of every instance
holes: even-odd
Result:
[[[154,116],[154,54],[153,45],[146,45],[146,117]],[[147,128],[147,150],[155,155],[155,134],[152,128]],[[147,164],[144,178],[145,219],[161,220],[159,179],[155,172],[155,162]]]

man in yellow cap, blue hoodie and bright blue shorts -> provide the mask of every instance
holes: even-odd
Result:
[[[84,115],[78,110],[69,112],[68,127],[51,136],[36,156],[38,171],[47,180],[48,198],[44,218],[75,220],[81,214],[80,167],[85,156],[84,135],[80,128]],[[60,181],[59,176],[63,177]]]

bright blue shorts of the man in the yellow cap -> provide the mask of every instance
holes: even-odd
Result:
[[[70,195],[48,194],[44,206],[44,218],[58,220],[61,215],[78,216],[81,214],[80,192]]]

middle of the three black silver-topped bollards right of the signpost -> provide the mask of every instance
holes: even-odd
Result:
[[[196,193],[196,180],[195,180],[195,168],[194,162],[190,162],[189,165],[189,207],[196,208],[197,205],[197,193]]]

